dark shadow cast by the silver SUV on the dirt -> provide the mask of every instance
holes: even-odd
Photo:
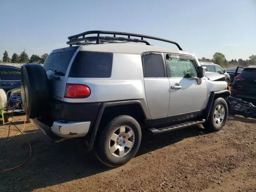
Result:
[[[145,132],[136,157],[184,138],[206,133],[200,126],[157,136]],[[92,152],[85,151],[81,140],[66,140],[56,144],[37,130],[16,136],[10,142],[6,140],[6,138],[0,139],[0,170],[20,164],[28,158],[27,140],[32,146],[32,157],[21,168],[0,173],[0,191],[30,191],[111,169],[102,165]]]

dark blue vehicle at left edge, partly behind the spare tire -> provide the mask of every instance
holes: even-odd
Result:
[[[20,88],[20,68],[0,65],[0,89],[5,92]]]

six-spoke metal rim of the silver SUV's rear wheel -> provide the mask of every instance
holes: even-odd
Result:
[[[119,126],[116,128],[108,142],[110,153],[115,157],[127,155],[133,147],[135,140],[134,131],[129,126]]]

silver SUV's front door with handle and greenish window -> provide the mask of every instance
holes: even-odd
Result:
[[[206,80],[197,78],[196,58],[177,54],[165,54],[170,82],[170,120],[182,119],[202,113],[206,105]]]

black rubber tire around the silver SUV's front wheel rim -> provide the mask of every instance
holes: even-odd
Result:
[[[225,110],[224,118],[220,124],[216,124],[214,120],[216,117],[216,115],[214,114],[214,111],[218,105],[223,106]],[[209,114],[209,118],[205,123],[203,123],[203,126],[206,130],[216,132],[222,129],[222,127],[225,125],[227,121],[227,118],[228,118],[228,104],[224,98],[217,98],[216,100],[214,100],[210,114]]]

